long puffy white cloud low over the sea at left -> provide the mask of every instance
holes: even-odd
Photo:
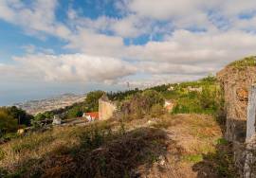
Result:
[[[84,54],[32,54],[15,57],[14,61],[15,65],[0,65],[1,76],[5,74],[27,80],[109,82],[136,72],[128,62]]]

